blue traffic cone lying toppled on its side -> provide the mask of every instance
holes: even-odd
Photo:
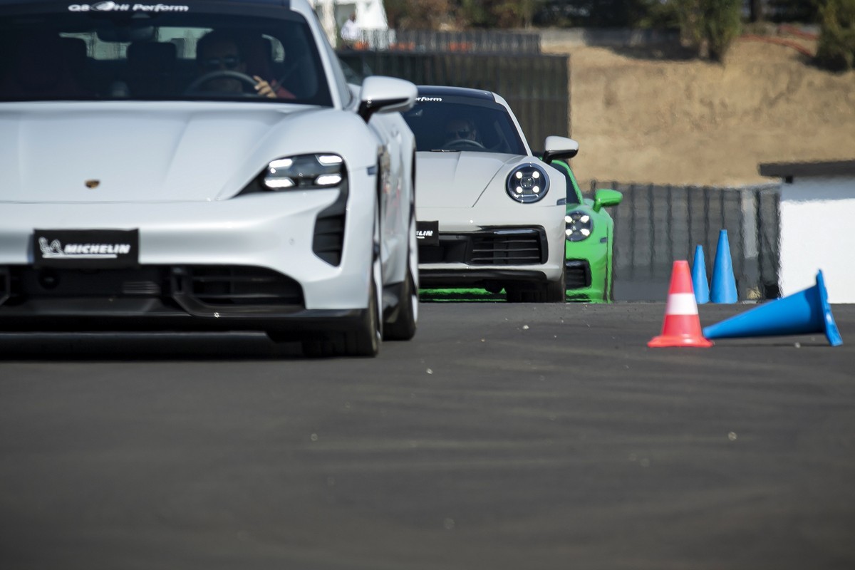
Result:
[[[705,338],[773,337],[824,332],[832,346],[843,344],[834,323],[823,272],[817,285],[781,299],[763,303],[704,329]]]

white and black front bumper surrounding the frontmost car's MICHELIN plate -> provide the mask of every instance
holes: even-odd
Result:
[[[0,330],[305,330],[367,306],[374,212],[339,190],[0,203],[0,218]],[[137,229],[139,266],[35,268],[34,227]]]

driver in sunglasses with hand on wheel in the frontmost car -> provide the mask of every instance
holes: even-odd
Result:
[[[218,71],[246,72],[246,62],[239,48],[239,42],[226,32],[208,32],[199,39],[196,44],[196,62],[199,68],[199,77],[207,73]],[[277,97],[276,91],[267,79],[258,75],[252,75],[255,79],[255,89],[261,97]],[[217,91],[220,93],[242,93],[244,82],[234,77],[213,77],[204,84],[205,91]]]

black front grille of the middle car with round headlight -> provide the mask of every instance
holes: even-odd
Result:
[[[439,245],[420,245],[422,263],[467,265],[537,265],[548,256],[542,227],[439,233]]]

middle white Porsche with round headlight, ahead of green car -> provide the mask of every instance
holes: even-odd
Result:
[[[550,162],[579,144],[547,137],[540,160],[491,91],[422,85],[404,119],[416,134],[422,286],[563,302],[567,186]]]

